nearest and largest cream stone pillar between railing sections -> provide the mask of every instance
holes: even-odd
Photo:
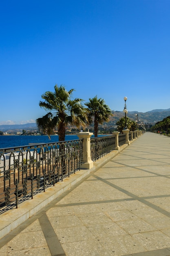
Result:
[[[79,132],[76,133],[79,139],[83,139],[83,161],[81,169],[91,169],[93,167],[93,161],[91,160],[91,141],[90,137],[93,132]]]

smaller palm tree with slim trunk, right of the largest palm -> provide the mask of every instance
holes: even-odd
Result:
[[[98,124],[102,124],[104,121],[108,121],[109,117],[112,116],[112,111],[109,106],[105,104],[104,99],[97,99],[95,96],[93,99],[89,99],[85,105],[88,107],[88,121],[92,123],[94,118],[94,135],[97,137],[98,134]]]

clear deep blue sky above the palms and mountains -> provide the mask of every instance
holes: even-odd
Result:
[[[0,3],[0,124],[46,112],[54,85],[112,110],[170,108],[170,0]]]

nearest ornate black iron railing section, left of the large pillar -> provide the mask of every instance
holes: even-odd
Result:
[[[18,208],[48,186],[80,170],[82,140],[0,149],[0,209]]]

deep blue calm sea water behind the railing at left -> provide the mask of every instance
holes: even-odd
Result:
[[[66,135],[65,140],[78,139],[77,135]],[[26,146],[29,143],[50,143],[57,142],[58,135],[51,135],[49,139],[46,135],[2,135],[0,136],[0,148],[11,148],[16,146]]]

